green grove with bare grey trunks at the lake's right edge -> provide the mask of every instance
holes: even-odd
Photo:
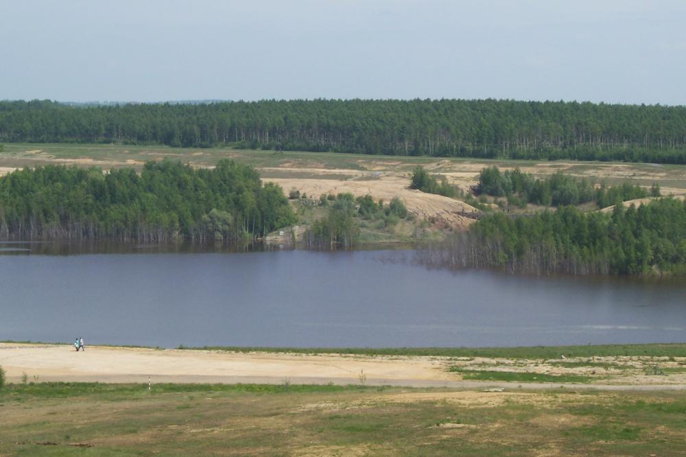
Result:
[[[686,203],[654,200],[613,213],[561,207],[531,217],[497,213],[420,252],[429,265],[550,274],[686,273]]]

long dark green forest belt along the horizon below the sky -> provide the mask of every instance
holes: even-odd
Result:
[[[686,163],[686,107],[514,100],[0,102],[0,141]]]

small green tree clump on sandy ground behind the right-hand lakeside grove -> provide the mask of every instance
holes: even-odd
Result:
[[[589,180],[575,179],[563,172],[556,172],[550,178],[537,179],[519,168],[500,172],[495,165],[482,169],[478,194],[507,197],[508,203],[525,207],[527,203],[546,207],[595,202],[604,208],[635,198],[659,197],[660,187],[654,184],[648,190],[630,183],[608,187],[604,183],[595,187]]]

